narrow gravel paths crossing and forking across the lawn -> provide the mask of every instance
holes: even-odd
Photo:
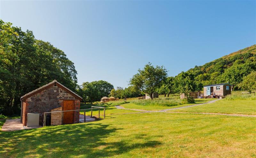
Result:
[[[170,110],[188,108],[188,107],[198,106],[198,105],[203,105],[203,104],[210,104],[210,103],[216,102],[217,100],[220,100],[220,99],[211,100],[207,103],[202,103],[202,104],[188,105],[188,106],[182,106],[182,107],[178,107],[178,108],[164,109],[164,110],[158,110],[158,111],[148,111],[148,110],[141,110],[141,109],[127,109],[127,108],[124,108],[123,106],[120,106],[120,105],[117,105],[115,107],[116,107],[116,109],[142,111],[142,112],[131,112],[131,113],[124,113],[124,114],[139,114],[139,113],[149,113],[149,112],[167,112],[167,113],[188,113],[188,114],[204,114],[204,115],[225,115],[225,116],[238,116],[238,117],[256,117],[256,115],[244,115],[244,114],[227,114],[227,113],[211,113],[211,112],[172,112],[172,111],[170,111]]]

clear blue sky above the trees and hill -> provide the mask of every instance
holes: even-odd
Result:
[[[127,87],[138,68],[169,76],[256,44],[255,1],[3,1],[0,18],[74,62],[78,83]]]

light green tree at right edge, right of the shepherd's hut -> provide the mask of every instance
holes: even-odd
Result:
[[[243,77],[243,81],[238,86],[251,93],[256,90],[256,71],[252,71],[249,75]]]

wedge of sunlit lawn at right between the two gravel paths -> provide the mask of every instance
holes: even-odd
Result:
[[[221,99],[215,103],[193,106],[172,111],[180,112],[216,112],[256,115],[256,100],[226,100]]]

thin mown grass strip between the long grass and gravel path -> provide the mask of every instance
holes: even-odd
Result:
[[[201,104],[201,103],[207,103],[211,100],[214,100],[214,98],[208,98],[208,99],[195,99],[194,104]],[[182,107],[182,106],[188,106],[188,105],[193,105],[193,104],[182,104],[182,105],[175,105],[175,106],[142,106],[142,105],[136,105],[133,103],[128,103],[128,104],[122,104],[124,108],[127,109],[141,109],[141,110],[164,110],[164,109],[172,109],[172,108],[177,108],[177,107]]]

